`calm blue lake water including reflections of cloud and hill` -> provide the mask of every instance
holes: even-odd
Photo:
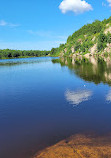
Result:
[[[111,132],[110,59],[0,61],[0,158],[30,158],[72,134]]]

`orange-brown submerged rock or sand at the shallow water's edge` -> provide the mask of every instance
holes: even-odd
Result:
[[[111,158],[111,135],[75,135],[44,149],[34,158]]]

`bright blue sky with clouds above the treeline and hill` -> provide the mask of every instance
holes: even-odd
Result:
[[[111,0],[4,0],[0,49],[49,50],[75,30],[111,15]]]

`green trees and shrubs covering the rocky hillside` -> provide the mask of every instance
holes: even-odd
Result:
[[[58,48],[58,54],[64,52],[64,55],[70,55],[74,53],[72,52],[72,47],[74,47],[75,53],[86,54],[90,52],[91,47],[95,44],[97,44],[98,52],[104,51],[107,43],[111,43],[111,34],[104,34],[107,27],[111,27],[111,17],[103,21],[96,20],[92,24],[84,25],[68,37],[65,45]],[[66,48],[67,52],[64,51],[64,48]]]

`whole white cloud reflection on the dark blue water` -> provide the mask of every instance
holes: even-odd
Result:
[[[92,92],[89,90],[78,90],[78,91],[70,91],[67,90],[65,92],[66,100],[75,106],[80,103],[89,100],[89,97],[92,96]]]

